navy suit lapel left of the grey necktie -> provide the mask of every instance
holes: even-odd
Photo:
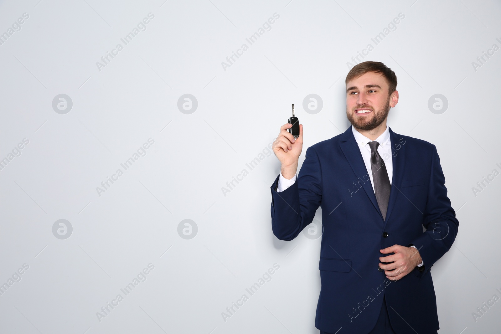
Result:
[[[369,181],[365,181],[365,179],[369,177],[367,173],[367,168],[365,168],[364,159],[362,158],[362,153],[360,153],[360,148],[357,142],[355,141],[355,137],[353,136],[353,131],[351,129],[351,126],[348,128],[348,130],[344,132],[343,135],[344,138],[341,139],[341,143],[339,146],[341,147],[341,150],[343,151],[343,154],[345,155],[346,160],[348,160],[348,163],[350,164],[350,167],[355,173],[355,175],[358,178],[360,178],[360,180],[362,180],[362,182],[360,183],[362,184],[362,188],[364,189],[365,193],[371,200],[372,205],[374,205],[374,208],[381,216],[381,219],[383,219],[383,215],[381,214],[381,211],[379,210],[379,206],[377,204],[376,195],[374,194],[374,190],[372,189],[371,181],[370,179]],[[353,180],[353,182],[357,184],[357,182],[359,182],[359,179]],[[390,200],[391,200],[392,190],[390,190]]]

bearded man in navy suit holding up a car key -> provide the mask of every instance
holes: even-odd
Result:
[[[436,333],[430,268],[452,246],[459,224],[436,147],[386,125],[398,103],[391,69],[360,63],[345,82],[352,126],[309,147],[299,175],[303,125],[296,140],[291,124],[280,129],[273,233],[294,239],[322,207],[320,333]]]

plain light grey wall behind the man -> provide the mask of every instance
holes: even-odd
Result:
[[[439,332],[499,330],[498,302],[472,316],[501,297],[501,176],[472,189],[501,172],[501,50],[472,66],[501,47],[498,1],[3,1],[0,34],[23,13],[29,19],[0,45],[0,284],[24,263],[29,269],[0,296],[0,332],[318,332],[321,239],[273,235],[269,186],[280,163],[267,146],[291,103],[305,131],[300,163],[307,147],[347,129],[347,62],[369,43],[364,61],[381,61],[398,78],[388,124],[437,146],[460,222],[431,271]],[[100,71],[96,62],[148,13],[146,30]],[[249,46],[274,13],[271,30]],[[396,30],[374,45],[399,13]],[[248,50],[224,71],[243,43]],[[66,114],[52,107],[59,94],[73,103]],[[191,114],[177,107],[184,94],[198,102]],[[323,101],[316,114],[302,108],[309,94]],[[435,94],[448,101],[441,114],[428,108]],[[124,171],[149,138],[154,144]],[[99,196],[96,187],[119,168]],[[224,194],[243,169],[248,175]],[[73,228],[66,239],[53,234],[59,219]],[[196,224],[192,238],[178,234],[184,219]],[[99,321],[96,312],[149,263],[146,280]],[[274,263],[272,279],[224,321],[221,312]]]

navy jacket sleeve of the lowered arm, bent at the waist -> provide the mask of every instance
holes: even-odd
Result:
[[[445,178],[435,145],[432,150],[430,174],[428,200],[423,212],[423,226],[426,231],[411,242],[419,250],[426,272],[450,249],[459,226],[456,213],[447,197]]]

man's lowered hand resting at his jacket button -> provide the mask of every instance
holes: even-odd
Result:
[[[389,264],[379,263],[379,267],[384,269],[386,277],[393,281],[407,275],[422,261],[419,251],[414,247],[393,245],[385,249],[380,249],[379,251],[383,254],[395,253],[379,257],[381,262],[393,262]]]

